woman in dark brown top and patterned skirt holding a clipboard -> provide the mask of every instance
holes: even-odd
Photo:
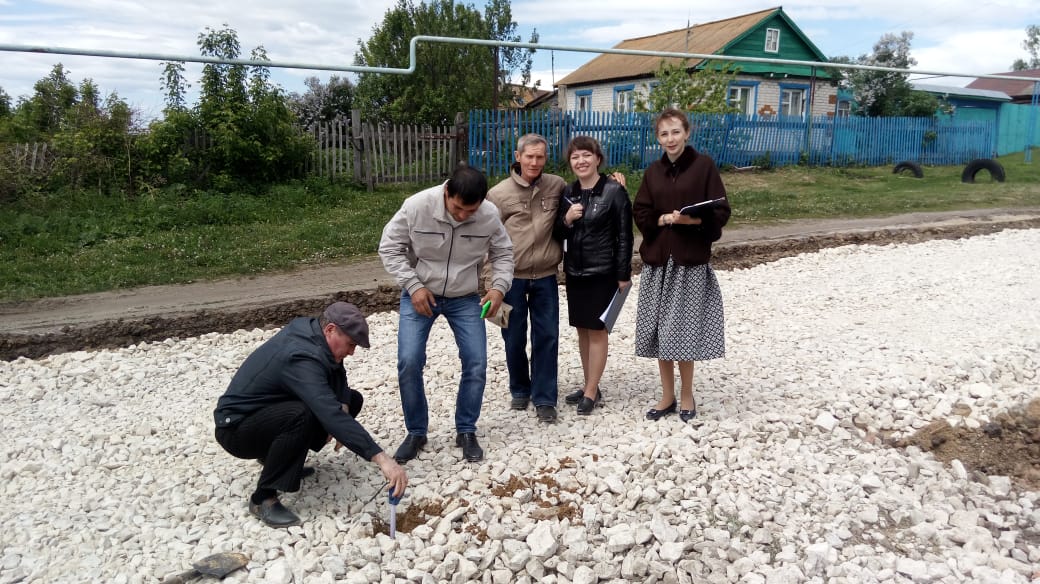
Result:
[[[658,420],[679,410],[688,422],[697,416],[694,362],[726,353],[725,322],[719,281],[708,263],[711,242],[729,220],[726,187],[711,157],[690,140],[685,112],[666,109],[655,124],[660,160],[643,175],[632,215],[643,234],[640,298],[635,313],[635,354],[657,359],[661,397],[647,412]],[[707,203],[682,213],[682,209]],[[681,392],[675,395],[675,363]]]

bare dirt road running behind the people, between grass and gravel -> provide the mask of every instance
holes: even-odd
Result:
[[[1037,208],[731,225],[716,245],[712,265],[718,269],[749,267],[836,245],[1036,228],[1040,228]],[[293,316],[316,314],[333,299],[353,301],[369,313],[381,312],[395,309],[398,294],[379,259],[369,257],[284,273],[6,303],[0,304],[0,359],[281,326]]]

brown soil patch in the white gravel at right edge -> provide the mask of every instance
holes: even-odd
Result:
[[[954,412],[967,416],[971,408],[958,404]],[[960,460],[969,476],[1011,477],[1019,489],[1040,490],[1040,399],[1000,413],[977,429],[938,420],[891,445],[916,446],[947,464]]]

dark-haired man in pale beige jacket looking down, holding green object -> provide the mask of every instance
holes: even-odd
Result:
[[[456,445],[466,460],[484,459],[476,441],[476,421],[488,373],[488,337],[484,316],[494,316],[513,275],[513,245],[487,203],[488,179],[460,167],[442,185],[408,197],[383,228],[380,258],[400,285],[397,329],[397,382],[408,435],[394,458],[415,458],[426,445],[430,408],[422,380],[426,341],[437,317],[444,316],[454,334],[462,362],[456,400]],[[477,295],[480,266],[491,266],[487,293]],[[482,306],[489,310],[482,315]]]

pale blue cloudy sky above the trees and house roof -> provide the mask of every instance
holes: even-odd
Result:
[[[0,0],[0,46],[29,45],[131,53],[198,55],[207,26],[238,32],[242,56],[263,45],[271,60],[349,65],[358,42],[380,24],[394,0]],[[480,7],[479,2],[470,2]],[[537,29],[548,45],[609,48],[643,36],[753,12],[772,2],[731,0],[514,0],[513,17],[526,41]],[[784,10],[829,57],[872,52],[885,33],[914,33],[918,70],[952,73],[1008,71],[1022,48],[1025,27],[1040,24],[1036,0],[788,0]],[[419,46],[422,50],[422,46]],[[539,51],[536,79],[550,87],[595,55]],[[61,62],[77,83],[93,79],[103,94],[116,91],[145,116],[162,109],[157,61],[0,51],[0,87],[18,98]],[[199,67],[188,65],[197,85]],[[312,75],[329,72],[274,70],[288,91],[303,91]],[[344,75],[344,74],[341,74]],[[969,79],[955,79],[963,85]],[[934,81],[933,81],[934,82]]]

